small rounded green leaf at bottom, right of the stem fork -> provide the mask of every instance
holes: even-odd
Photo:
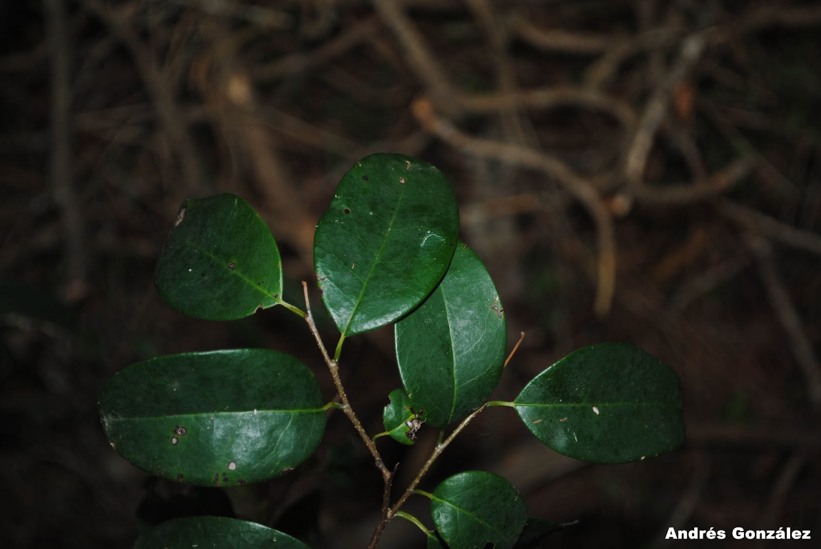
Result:
[[[446,478],[433,491],[430,513],[451,549],[493,543],[511,549],[527,521],[525,500],[506,478],[466,471]]]

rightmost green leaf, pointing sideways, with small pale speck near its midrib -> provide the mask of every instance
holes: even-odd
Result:
[[[576,350],[534,377],[514,404],[540,441],[578,460],[643,460],[684,441],[676,373],[626,343]]]

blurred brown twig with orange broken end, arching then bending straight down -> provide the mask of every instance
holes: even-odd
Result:
[[[605,316],[611,307],[616,284],[616,234],[612,214],[599,197],[594,185],[580,176],[564,162],[546,153],[525,149],[499,141],[473,137],[457,130],[450,121],[437,117],[433,106],[424,98],[417,99],[411,107],[414,116],[425,130],[458,149],[486,158],[496,158],[520,167],[544,172],[587,209],[596,226],[598,244],[598,283],[594,301],[594,313]]]

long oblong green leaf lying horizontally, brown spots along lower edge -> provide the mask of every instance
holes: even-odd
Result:
[[[287,473],[325,429],[319,383],[275,350],[168,355],[131,364],[103,387],[112,447],[150,474],[236,486]]]

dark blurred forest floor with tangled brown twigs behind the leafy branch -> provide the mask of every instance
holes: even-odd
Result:
[[[756,547],[737,526],[818,538],[819,67],[818,2],[0,0],[2,545],[129,547],[215,513],[365,547],[381,478],[342,414],[294,473],[195,490],[122,460],[96,401],[132,362],[234,346],[291,352],[333,398],[296,317],[183,318],[154,259],[184,199],[240,194],[299,304],[316,220],[378,151],[447,174],[510,344],[526,332],[494,398],[616,340],[671,364],[686,406],[685,446],[617,466],[563,458],[491,409],[423,488],[503,474],[531,515],[579,521],[549,547],[663,547],[671,526],[730,538],[667,542],[688,547]],[[346,357],[378,432],[399,386],[391,330]],[[433,444],[420,435],[381,446],[397,487]],[[380,547],[423,543],[391,524]]]

